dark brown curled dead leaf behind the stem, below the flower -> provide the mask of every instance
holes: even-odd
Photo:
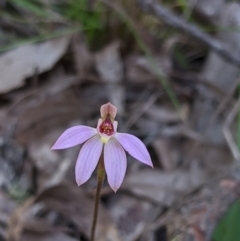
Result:
[[[43,202],[48,208],[62,213],[85,236],[89,237],[94,202],[93,199],[85,195],[81,188],[72,185],[52,187],[39,196],[37,201]],[[101,203],[95,236],[96,241],[121,241],[114,223]]]

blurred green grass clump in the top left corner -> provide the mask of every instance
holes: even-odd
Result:
[[[9,0],[8,3],[9,7],[1,10],[1,16],[14,24],[30,27],[35,33],[28,38],[16,36],[8,45],[0,47],[1,52],[76,31],[83,31],[91,45],[99,43],[106,31],[105,10],[98,1],[91,10],[88,0],[59,1],[55,4],[42,4],[38,0]]]

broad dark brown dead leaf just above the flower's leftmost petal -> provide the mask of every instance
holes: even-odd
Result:
[[[30,107],[28,103],[27,107],[29,108],[21,111],[18,116],[16,133],[18,141],[24,145],[31,145],[36,141],[36,136],[38,137],[37,140],[40,140],[46,133],[56,131],[56,129],[58,129],[58,135],[60,135],[63,131],[61,128],[66,129],[72,121],[81,121],[82,118],[86,118],[95,111],[94,108],[89,108],[83,102],[71,98],[72,92],[69,92],[68,90],[63,91],[56,98],[49,98],[40,106],[33,103]],[[31,101],[34,102],[34,98]],[[58,135],[55,135],[55,137],[57,138]]]

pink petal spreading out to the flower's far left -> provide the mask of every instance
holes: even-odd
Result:
[[[82,144],[97,134],[97,130],[88,126],[74,126],[62,133],[52,146],[52,150],[65,149]]]

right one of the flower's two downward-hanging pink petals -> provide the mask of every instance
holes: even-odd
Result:
[[[111,138],[104,146],[104,164],[108,183],[116,192],[126,173],[127,158],[122,146],[114,138]]]

